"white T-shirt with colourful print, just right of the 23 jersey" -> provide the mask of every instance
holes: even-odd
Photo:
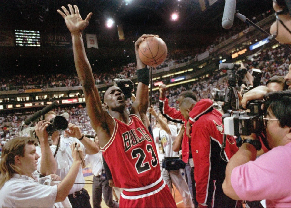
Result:
[[[177,136],[177,127],[175,125],[169,125],[171,135],[167,134],[165,130],[155,128],[152,130],[152,134],[154,136],[154,141],[156,143],[156,148],[158,151],[158,157],[160,163],[164,159],[164,157],[178,157],[178,152],[174,152],[172,150],[173,147],[173,139],[171,136]],[[164,154],[159,151],[159,140],[162,141]]]

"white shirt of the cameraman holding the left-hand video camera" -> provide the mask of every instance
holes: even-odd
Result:
[[[59,175],[61,177],[61,180],[63,180],[65,178],[65,176],[68,174],[70,167],[72,166],[72,163],[74,161],[73,157],[72,157],[72,150],[71,150],[71,144],[72,143],[80,143],[80,149],[84,148],[84,145],[76,138],[61,138],[60,141],[60,147],[58,150],[58,153],[55,157],[55,161],[57,164],[57,171],[55,174]],[[40,161],[41,161],[41,149],[39,146],[36,146],[36,152],[37,154],[40,156],[40,158],[38,159],[38,165],[37,165],[37,169],[38,171],[40,170]],[[56,145],[51,145],[50,146],[51,150],[52,150],[52,154],[55,154],[55,150],[57,148]],[[85,183],[85,179],[83,176],[83,172],[82,172],[82,168],[80,167],[78,175],[76,177],[75,183]],[[76,191],[81,190],[84,187],[84,184],[74,184],[72,189],[70,190],[69,194],[72,194]]]

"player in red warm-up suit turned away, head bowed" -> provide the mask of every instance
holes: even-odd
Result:
[[[210,99],[196,102],[184,98],[180,111],[187,122],[186,132],[191,128],[191,150],[194,160],[196,200],[199,207],[235,207],[236,201],[225,196],[222,182],[227,160],[236,153],[236,140],[227,137],[226,147],[221,153],[223,125],[221,113],[213,108]],[[226,159],[222,159],[223,154]]]

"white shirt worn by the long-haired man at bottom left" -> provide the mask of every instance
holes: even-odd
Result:
[[[54,207],[57,185],[39,184],[34,177],[14,174],[0,189],[0,207]]]

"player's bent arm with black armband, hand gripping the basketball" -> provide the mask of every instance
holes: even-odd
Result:
[[[149,69],[146,68],[146,65],[142,63],[139,58],[139,45],[142,41],[145,40],[145,38],[150,36],[159,37],[158,35],[143,34],[134,44],[138,84],[136,89],[136,99],[135,102],[132,104],[131,113],[138,115],[142,119],[145,126],[146,111],[149,105]]]

